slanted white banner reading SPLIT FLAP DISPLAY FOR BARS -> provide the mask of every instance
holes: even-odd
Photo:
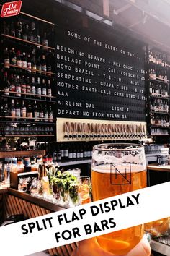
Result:
[[[166,182],[2,226],[1,255],[29,255],[169,217],[169,195]]]

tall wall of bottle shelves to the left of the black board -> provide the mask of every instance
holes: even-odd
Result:
[[[1,29],[1,135],[54,136],[53,24],[21,16]]]

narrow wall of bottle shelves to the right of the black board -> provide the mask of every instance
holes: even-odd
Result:
[[[149,132],[153,136],[169,135],[169,64],[166,54],[148,51]]]

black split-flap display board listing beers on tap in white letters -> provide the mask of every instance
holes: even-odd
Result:
[[[69,14],[68,14],[69,15]],[[57,117],[146,121],[144,51],[137,40],[89,20],[56,25]]]

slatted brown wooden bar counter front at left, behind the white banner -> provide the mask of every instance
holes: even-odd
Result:
[[[24,214],[25,218],[35,218],[58,210],[63,210],[53,202],[33,197],[12,188],[0,189],[0,221],[14,214]],[[50,255],[71,256],[78,243],[48,249]]]

